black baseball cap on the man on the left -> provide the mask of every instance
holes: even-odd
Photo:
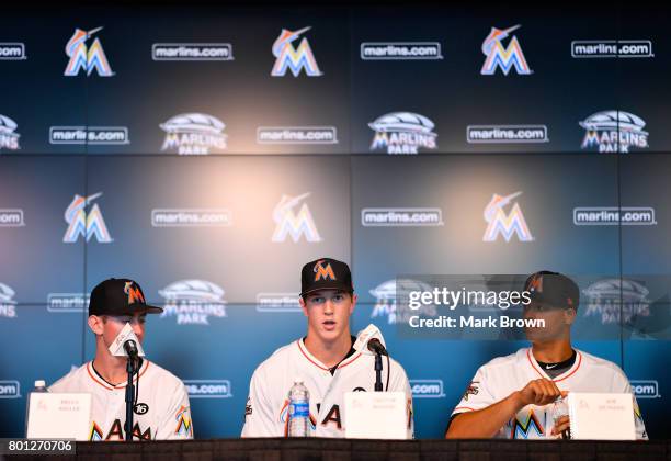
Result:
[[[150,306],[137,282],[130,279],[107,279],[91,292],[89,315],[160,314],[161,307]]]

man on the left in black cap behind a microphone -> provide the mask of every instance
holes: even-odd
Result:
[[[141,344],[146,315],[162,311],[146,303],[133,280],[109,279],[91,292],[88,323],[95,334],[95,358],[49,387],[49,392],[91,394],[89,440],[125,440],[127,358],[113,356],[109,347],[127,323]],[[140,358],[136,370],[133,440],[192,439],[184,384],[147,359]]]

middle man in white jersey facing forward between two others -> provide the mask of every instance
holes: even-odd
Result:
[[[344,394],[373,392],[375,355],[350,335],[350,315],[356,306],[346,263],[322,258],[302,270],[300,307],[307,336],[277,349],[252,375],[242,437],[286,437],[288,392],[302,379],[310,396],[311,435],[344,437]],[[384,344],[382,336],[378,336]],[[390,367],[387,367],[389,363]],[[408,437],[412,437],[412,394],[406,372],[395,360],[384,361],[385,391],[405,392]]]

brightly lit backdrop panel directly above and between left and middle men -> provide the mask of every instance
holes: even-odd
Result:
[[[297,294],[307,261],[349,259],[345,157],[100,157],[89,165],[89,189],[104,191],[114,238],[88,246],[89,289],[126,274],[160,303],[169,284],[203,280],[228,303],[255,303],[259,293]],[[225,210],[230,225],[152,226],[152,211],[184,209]]]

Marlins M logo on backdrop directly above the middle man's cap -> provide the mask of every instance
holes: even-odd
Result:
[[[294,209],[309,195],[309,192],[298,196],[282,195],[280,203],[273,210],[275,232],[273,233],[272,240],[274,243],[285,241],[288,236],[292,237],[294,243],[298,243],[303,235],[305,235],[305,239],[309,243],[321,241],[319,231],[307,203],[304,202],[300,205],[298,213],[294,212]]]

